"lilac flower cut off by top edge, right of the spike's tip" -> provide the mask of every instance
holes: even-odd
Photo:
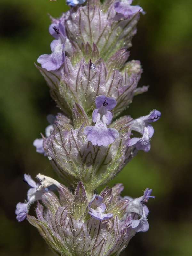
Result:
[[[116,12],[121,13],[125,16],[133,15],[137,12],[142,12],[143,14],[145,14],[145,12],[140,6],[138,5],[133,6],[131,4],[132,4],[132,0],[121,0],[121,1],[116,1],[114,3],[114,7]]]

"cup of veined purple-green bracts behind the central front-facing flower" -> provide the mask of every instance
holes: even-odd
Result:
[[[85,124],[90,124],[78,104],[74,106],[73,118],[80,122],[84,118]],[[121,132],[115,142],[106,147],[94,146],[83,133],[84,124],[74,129],[68,120],[64,115],[56,116],[54,130],[44,138],[43,146],[50,164],[70,186],[74,187],[81,181],[86,190],[93,191],[111,180],[135,156],[135,148],[127,146],[132,124],[130,116],[121,117],[110,124],[111,129]]]

